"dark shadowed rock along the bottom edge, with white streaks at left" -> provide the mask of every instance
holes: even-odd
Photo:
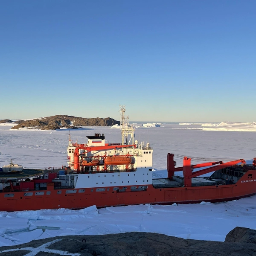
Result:
[[[255,230],[241,227],[230,231],[226,237],[228,241],[225,242],[186,240],[140,232],[102,236],[59,236],[1,247],[0,256],[255,256],[255,238]]]

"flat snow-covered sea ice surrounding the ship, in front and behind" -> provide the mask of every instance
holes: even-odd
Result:
[[[154,148],[155,177],[166,177],[166,155],[229,160],[256,156],[255,133],[176,129],[178,125],[137,129],[137,140]],[[120,142],[119,129],[90,127],[72,130],[72,139],[86,141],[86,135],[104,133],[111,143]],[[19,131],[0,126],[0,166],[10,159],[28,168],[46,168],[66,164],[67,130]],[[53,236],[95,235],[131,231],[163,233],[190,239],[224,241],[236,226],[256,229],[256,196],[218,204],[137,205],[81,210],[56,209],[24,212],[0,212],[0,246],[20,244]]]

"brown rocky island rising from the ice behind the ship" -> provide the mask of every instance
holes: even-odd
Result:
[[[19,128],[26,127],[26,128],[39,128],[41,130],[56,130],[60,128],[77,129],[77,128],[81,128],[81,126],[112,126],[116,124],[120,125],[119,121],[116,121],[115,119],[112,119],[110,117],[83,118],[83,117],[65,116],[65,115],[42,117],[39,119],[32,119],[32,120],[20,120],[20,121],[16,121],[15,123],[18,123],[18,125],[15,125],[14,127],[12,127],[12,129],[19,129]]]

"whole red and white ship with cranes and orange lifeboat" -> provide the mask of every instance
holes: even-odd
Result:
[[[121,143],[94,134],[79,144],[69,135],[65,166],[5,166],[0,211],[215,203],[256,195],[256,157],[252,164],[243,159],[191,164],[192,157],[185,156],[183,166],[176,167],[176,155],[168,153],[167,177],[154,178],[153,147],[134,140],[125,106],[120,106],[120,119]]]

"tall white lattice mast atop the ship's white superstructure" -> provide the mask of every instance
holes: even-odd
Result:
[[[129,125],[129,116],[125,116],[125,106],[119,105],[120,107],[120,128],[122,134],[122,145],[134,144],[134,128]],[[128,141],[128,136],[131,135]]]

